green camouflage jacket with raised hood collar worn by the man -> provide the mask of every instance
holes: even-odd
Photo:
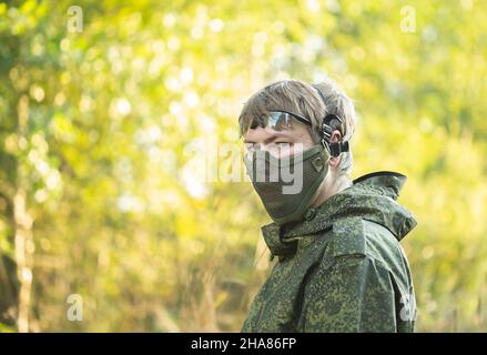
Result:
[[[406,176],[376,172],[305,221],[262,227],[273,256],[243,332],[413,332],[416,302],[399,241],[415,227],[395,200]]]

